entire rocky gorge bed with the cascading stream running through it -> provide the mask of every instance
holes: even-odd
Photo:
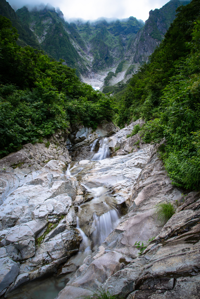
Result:
[[[159,144],[126,138],[136,124],[77,126],[0,160],[2,298],[49,298],[49,282],[51,295],[64,287],[59,299],[101,287],[120,298],[199,298],[199,192],[171,184]],[[155,205],[166,200],[177,209],[163,226]],[[135,242],[153,237],[139,255]]]

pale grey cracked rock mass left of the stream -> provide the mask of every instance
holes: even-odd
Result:
[[[54,274],[80,246],[80,233],[65,216],[84,187],[66,175],[71,160],[62,147],[26,144],[0,160],[4,296],[28,280]]]

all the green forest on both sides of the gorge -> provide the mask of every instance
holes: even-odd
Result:
[[[17,30],[0,17],[0,154],[41,142],[78,122],[120,128],[143,118],[145,142],[165,142],[160,158],[178,187],[200,186],[200,0],[177,9],[164,40],[113,95],[81,83],[75,69],[41,50],[20,47]],[[121,66],[121,65],[120,65]],[[109,88],[107,89],[109,91]]]

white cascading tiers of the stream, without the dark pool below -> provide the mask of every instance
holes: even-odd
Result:
[[[96,139],[91,147],[91,152],[95,149],[97,142],[99,139]],[[98,161],[103,160],[105,158],[108,158],[110,156],[109,148],[108,148],[108,138],[103,138],[100,140],[100,147],[96,154],[94,154],[92,161]],[[89,162],[89,161],[88,161]],[[90,162],[91,163],[91,162]],[[72,163],[69,165],[66,174],[70,177],[76,177],[78,173],[84,169],[84,164],[79,165],[78,162]],[[107,238],[107,236],[113,231],[113,229],[116,228],[120,221],[120,214],[116,208],[113,208],[113,201],[109,202],[109,196],[108,191],[104,186],[99,187],[88,187],[87,185],[81,183],[82,186],[86,188],[86,190],[90,193],[91,196],[93,196],[93,199],[90,200],[90,202],[85,202],[82,205],[78,207],[78,213],[77,213],[77,228],[83,238],[81,242],[81,247],[79,250],[78,255],[87,256],[91,254],[91,250],[96,250],[102,242]],[[85,205],[87,205],[86,210],[87,213],[91,213],[92,221],[90,222],[91,231],[88,230],[85,227],[84,224],[84,216],[82,214],[82,210],[84,212]],[[95,205],[99,205],[102,207],[102,214],[99,212],[97,213],[97,210],[94,209]],[[105,207],[104,207],[105,205]],[[94,212],[95,211],[95,212]],[[81,217],[79,219],[79,217]],[[80,221],[79,221],[80,220]],[[80,227],[81,226],[81,227]],[[86,230],[85,230],[86,228]],[[85,234],[84,233],[87,234]],[[88,234],[89,233],[89,234]],[[87,237],[88,236],[88,237]],[[91,247],[92,246],[92,247]]]

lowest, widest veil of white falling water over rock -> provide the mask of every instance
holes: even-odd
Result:
[[[104,203],[106,205],[106,203]],[[92,239],[94,241],[95,247],[97,248],[101,245],[107,236],[116,228],[120,219],[118,210],[113,209],[107,213],[97,216],[94,214],[94,224],[96,230],[92,233]]]

